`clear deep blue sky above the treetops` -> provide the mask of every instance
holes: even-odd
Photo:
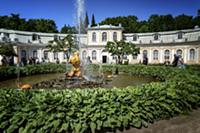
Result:
[[[106,17],[136,15],[146,20],[151,14],[187,14],[196,16],[200,0],[85,0],[90,21]],[[75,0],[0,0],[0,15],[19,13],[22,18],[49,18],[58,29],[74,25]]]

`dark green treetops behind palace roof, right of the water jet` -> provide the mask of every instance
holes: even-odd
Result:
[[[118,26],[120,23],[125,33],[160,32],[171,30],[191,29],[196,25],[200,26],[200,11],[197,16],[181,14],[172,16],[171,14],[152,14],[147,21],[139,21],[137,16],[118,16],[106,18],[100,24],[112,24]]]

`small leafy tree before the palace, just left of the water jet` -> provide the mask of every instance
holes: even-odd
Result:
[[[64,52],[67,56],[67,60],[69,60],[71,53],[77,50],[77,45],[71,34],[67,35],[64,39],[49,41],[46,47],[52,52]]]

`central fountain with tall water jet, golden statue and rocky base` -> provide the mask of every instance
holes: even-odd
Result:
[[[85,1],[76,0],[76,28],[77,28],[77,41],[78,41],[78,50],[80,48],[85,48],[84,45],[80,42],[81,33],[84,33],[83,29],[83,20],[85,16]],[[50,81],[44,81],[37,83],[33,88],[93,88],[100,87],[103,84],[103,80],[94,78],[91,68],[87,60],[80,59],[79,52],[76,51],[73,53],[73,56],[70,57],[68,63],[72,65],[70,72],[65,73],[65,78],[54,79]],[[98,82],[97,82],[98,81]]]

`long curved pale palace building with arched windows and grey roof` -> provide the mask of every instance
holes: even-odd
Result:
[[[80,38],[80,56],[82,59],[91,58],[93,63],[115,63],[115,57],[105,50],[108,41],[124,40],[140,47],[140,54],[133,57],[124,57],[129,63],[140,63],[143,55],[147,55],[149,63],[164,63],[173,61],[174,54],[181,55],[186,64],[200,64],[200,28],[152,32],[152,33],[126,33],[123,27],[112,25],[101,25],[89,27],[87,34],[75,35]],[[62,39],[67,34],[39,33],[0,29],[0,43],[15,44],[14,49],[18,54],[19,61],[30,57],[44,58],[49,62],[66,62],[64,53],[48,52],[46,45],[55,38]],[[2,57],[0,57],[1,60]],[[17,58],[14,59],[17,63]]]

